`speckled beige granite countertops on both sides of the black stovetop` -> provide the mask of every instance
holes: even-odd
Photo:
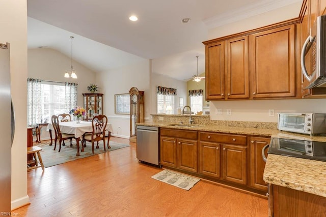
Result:
[[[215,133],[246,134],[272,138],[292,138],[326,142],[326,135],[309,136],[289,133],[277,129],[227,127],[219,125],[193,125],[192,127],[169,126],[171,123],[144,122],[142,126],[206,131]],[[326,162],[268,154],[264,170],[264,181],[298,191],[326,197]]]

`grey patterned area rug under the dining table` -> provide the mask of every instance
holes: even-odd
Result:
[[[53,150],[53,148],[55,148],[55,144],[52,144],[51,146],[49,146],[49,143],[50,143],[49,141],[44,141],[42,143],[34,144],[34,145],[42,148],[41,157],[42,157],[44,167],[51,167],[51,166],[55,166],[58,164],[63,164],[65,162],[74,161],[77,159],[82,159],[82,158],[93,156],[91,142],[86,142],[86,147],[84,148],[84,152],[81,151],[82,147],[79,142],[80,156],[76,156],[77,147],[76,147],[76,140],[74,140],[74,139],[72,140],[73,146],[71,146],[71,147],[70,147],[70,141],[66,140],[65,141],[66,145],[65,146],[61,145],[60,152],[58,152],[59,151],[58,142],[57,142],[56,150]],[[96,143],[94,144],[94,155],[99,154],[99,153],[104,153],[103,142],[100,141],[98,145],[99,145],[99,148],[96,148]],[[106,152],[130,146],[128,144],[117,143],[114,141],[110,141],[110,146],[111,146],[110,149],[107,149],[106,145],[107,145],[107,141],[105,142]]]

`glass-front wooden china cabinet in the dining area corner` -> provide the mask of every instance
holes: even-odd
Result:
[[[86,110],[85,120],[90,121],[94,113],[102,114],[103,94],[83,94],[84,108]]]

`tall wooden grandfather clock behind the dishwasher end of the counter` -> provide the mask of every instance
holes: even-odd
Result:
[[[130,95],[130,142],[137,142],[136,124],[144,122],[144,91],[131,87]]]

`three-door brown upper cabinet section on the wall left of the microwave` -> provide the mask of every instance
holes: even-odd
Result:
[[[203,42],[206,100],[297,97],[294,23]]]

